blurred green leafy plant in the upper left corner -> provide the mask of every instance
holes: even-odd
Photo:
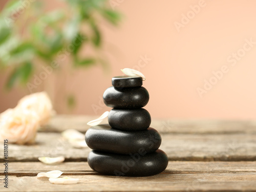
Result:
[[[0,13],[0,64],[3,68],[15,66],[6,87],[27,82],[38,67],[32,64],[34,59],[50,64],[54,59],[64,61],[71,57],[74,66],[108,66],[105,59],[99,60],[102,36],[98,21],[103,18],[116,24],[120,19],[119,13],[109,9],[109,0],[64,0],[68,12],[62,7],[46,11],[45,1],[30,1],[29,9],[24,9],[26,13],[19,9],[23,2],[9,0]],[[29,28],[24,28],[25,23]],[[90,50],[95,51],[93,57],[79,54],[88,41]],[[74,98],[69,97],[68,101],[73,105]]]

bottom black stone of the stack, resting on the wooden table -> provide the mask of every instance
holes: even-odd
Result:
[[[93,150],[89,153],[88,164],[94,171],[105,175],[146,177],[163,172],[168,157],[162,150],[148,154],[140,151],[131,155]]]

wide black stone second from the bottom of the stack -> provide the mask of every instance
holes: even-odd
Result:
[[[120,131],[105,124],[93,126],[86,132],[89,148],[117,154],[134,154],[142,149],[146,153],[152,153],[159,148],[161,140],[160,134],[153,128]]]

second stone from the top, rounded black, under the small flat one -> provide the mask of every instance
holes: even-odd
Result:
[[[109,87],[103,93],[106,106],[120,109],[135,109],[144,107],[150,95],[144,87],[121,88]]]

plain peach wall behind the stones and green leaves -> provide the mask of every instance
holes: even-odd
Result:
[[[69,74],[66,69],[66,75],[52,74],[38,88],[46,88],[57,112],[109,110],[101,98],[111,78],[122,75],[121,68],[135,67],[146,76],[150,102],[145,108],[152,117],[255,118],[256,1],[113,1],[122,2],[115,9],[124,18],[119,28],[101,23],[109,70],[98,65]],[[61,6],[47,2],[52,9]],[[150,60],[141,62],[145,56]],[[1,89],[5,78],[1,72]],[[1,91],[0,112],[27,93],[26,87]],[[76,95],[72,111],[63,102],[65,93]]]

